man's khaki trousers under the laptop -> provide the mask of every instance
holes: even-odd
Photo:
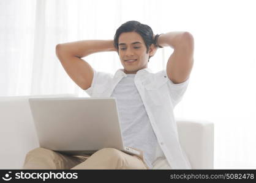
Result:
[[[26,154],[23,169],[149,169],[149,167],[143,159],[142,152],[141,156],[132,156],[115,148],[104,148],[92,155],[73,156],[36,148]]]

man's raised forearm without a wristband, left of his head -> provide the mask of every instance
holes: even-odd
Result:
[[[79,58],[96,52],[116,51],[113,40],[81,40],[58,44],[57,47],[66,54]]]

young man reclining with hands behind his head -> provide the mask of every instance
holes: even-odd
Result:
[[[152,73],[149,58],[157,48],[174,49],[166,70]],[[81,59],[96,52],[118,52],[123,69],[98,72]],[[26,169],[189,169],[178,140],[173,109],[181,101],[193,66],[194,38],[189,32],[154,35],[151,27],[128,21],[114,40],[85,40],[56,46],[56,54],[72,80],[92,97],[115,97],[124,145],[140,150],[131,156],[104,148],[92,156],[66,156],[49,149],[30,151]]]

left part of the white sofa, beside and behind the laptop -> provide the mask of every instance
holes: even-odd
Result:
[[[78,97],[78,95],[0,97],[0,169],[20,169],[26,153],[39,147],[28,99],[51,97]]]

